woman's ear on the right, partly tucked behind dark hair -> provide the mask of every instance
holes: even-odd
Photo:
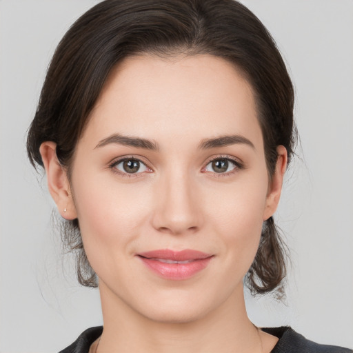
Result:
[[[263,221],[266,221],[274,214],[281,197],[283,177],[285,169],[287,168],[287,150],[283,145],[277,146],[277,154],[276,168],[268,186],[265,210],[263,211]]]

